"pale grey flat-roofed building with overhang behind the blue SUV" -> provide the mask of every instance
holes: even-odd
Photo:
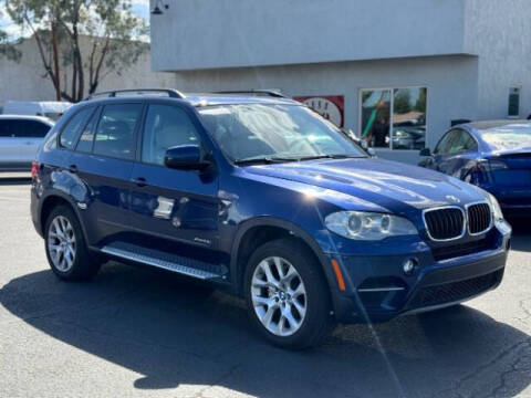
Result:
[[[418,160],[452,121],[531,113],[529,0],[160,4],[168,8],[152,15],[153,69],[175,72],[175,87],[320,97],[320,111],[327,106],[382,157]]]

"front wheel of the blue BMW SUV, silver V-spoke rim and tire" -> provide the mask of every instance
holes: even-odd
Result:
[[[279,266],[289,282],[279,282]],[[280,289],[273,287],[273,281]],[[243,282],[251,322],[273,345],[290,349],[317,346],[332,331],[325,276],[313,253],[295,239],[280,239],[258,248],[246,268]]]

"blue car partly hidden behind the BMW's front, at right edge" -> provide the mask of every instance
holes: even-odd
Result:
[[[492,193],[506,216],[531,217],[531,122],[494,121],[452,127],[419,166]]]

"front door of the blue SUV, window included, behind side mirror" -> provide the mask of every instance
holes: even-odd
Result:
[[[168,148],[205,145],[191,116],[178,105],[148,105],[139,161],[133,170],[131,220],[137,242],[176,254],[195,248],[197,258],[217,247],[218,177],[164,166]]]

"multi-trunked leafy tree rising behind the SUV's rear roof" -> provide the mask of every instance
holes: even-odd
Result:
[[[85,92],[94,93],[112,72],[119,75],[147,48],[137,40],[147,34],[147,25],[132,14],[131,0],[0,0],[2,2],[13,23],[35,40],[45,75],[58,98],[83,100]],[[62,76],[69,83],[64,87]]]

